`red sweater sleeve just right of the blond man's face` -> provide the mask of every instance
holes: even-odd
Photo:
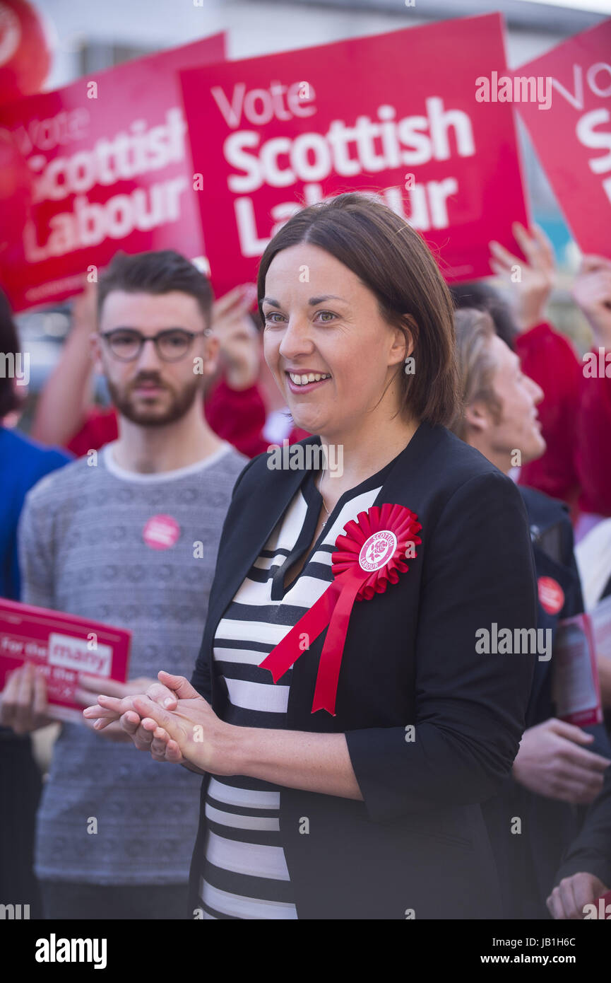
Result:
[[[568,339],[545,322],[516,338],[522,369],[543,390],[538,404],[545,453],[525,464],[520,484],[575,504],[579,493],[576,469],[577,417],[581,366]]]

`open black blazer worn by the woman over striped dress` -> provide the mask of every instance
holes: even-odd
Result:
[[[212,660],[218,622],[303,478],[269,470],[261,454],[236,483],[192,679],[221,718],[228,695]],[[426,423],[395,459],[375,500],[383,502],[417,513],[422,543],[398,584],[355,604],[335,717],[310,712],[324,633],[293,667],[287,728],[344,732],[363,797],[282,789],[298,915],[494,918],[498,881],[479,803],[518,752],[536,657],[480,655],[475,632],[536,626],[525,507],[478,451]],[[206,785],[204,777],[202,804]],[[204,824],[202,805],[193,907]]]

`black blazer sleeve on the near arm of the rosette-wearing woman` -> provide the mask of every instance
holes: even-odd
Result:
[[[475,634],[493,623],[512,636],[536,627],[527,516],[513,482],[488,472],[454,492],[423,563],[415,719],[346,733],[374,822],[489,798],[509,775],[525,729],[536,656],[479,654]]]

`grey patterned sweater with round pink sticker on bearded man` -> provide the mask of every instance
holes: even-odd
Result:
[[[95,466],[80,458],[28,493],[23,601],[131,629],[130,678],[155,678],[160,668],[190,678],[221,528],[248,459],[224,444],[188,468],[140,475],[120,469],[112,448]],[[186,882],[200,781],[131,743],[64,723],[38,811],[37,876]]]

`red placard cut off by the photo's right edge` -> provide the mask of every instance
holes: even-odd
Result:
[[[550,80],[548,109],[518,111],[583,253],[611,257],[611,20],[514,74]]]

